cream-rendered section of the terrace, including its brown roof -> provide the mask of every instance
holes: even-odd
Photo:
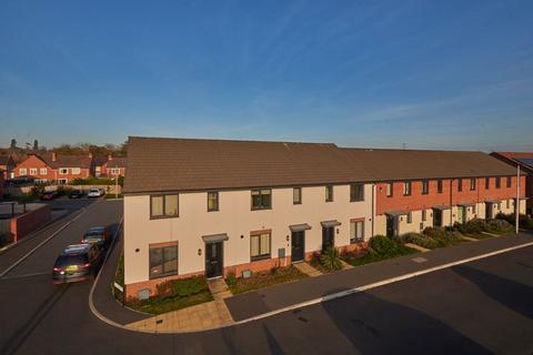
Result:
[[[372,176],[334,144],[130,138],[128,296],[364,246]]]

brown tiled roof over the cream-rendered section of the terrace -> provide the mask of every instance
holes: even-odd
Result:
[[[124,192],[371,181],[335,144],[130,138]]]

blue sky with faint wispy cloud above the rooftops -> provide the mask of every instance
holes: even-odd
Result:
[[[533,150],[533,1],[0,3],[0,145]]]

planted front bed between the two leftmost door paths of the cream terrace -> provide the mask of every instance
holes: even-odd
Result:
[[[294,266],[273,268],[272,271],[257,272],[250,277],[228,277],[225,281],[233,294],[249,292],[252,290],[264,288],[275,284],[282,284],[291,281],[305,278],[308,275],[300,272]]]

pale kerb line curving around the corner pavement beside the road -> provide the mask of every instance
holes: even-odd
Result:
[[[121,225],[122,225],[122,221],[121,221]],[[278,315],[280,313],[285,313],[285,312],[299,310],[299,308],[302,308],[302,307],[308,307],[308,306],[312,306],[312,305],[315,305],[315,304],[320,304],[320,303],[323,303],[323,302],[332,301],[332,300],[335,300],[335,298],[345,297],[345,296],[353,295],[353,294],[364,292],[364,291],[368,291],[368,290],[381,287],[381,286],[389,285],[389,284],[392,284],[392,283],[396,283],[396,282],[400,282],[400,281],[413,278],[413,277],[421,276],[421,275],[429,274],[429,273],[433,273],[433,272],[436,272],[436,271],[440,271],[440,270],[444,270],[444,268],[449,268],[449,267],[452,267],[452,266],[456,266],[456,265],[474,262],[474,261],[477,261],[477,260],[491,257],[491,256],[494,256],[494,255],[512,252],[512,251],[523,248],[523,247],[527,247],[527,246],[532,246],[532,245],[533,245],[533,242],[524,243],[524,244],[520,244],[520,245],[515,245],[515,246],[510,246],[510,247],[497,250],[497,251],[494,251],[494,252],[491,252],[491,253],[485,253],[485,254],[481,254],[481,255],[477,255],[477,256],[472,256],[472,257],[459,260],[459,261],[455,261],[455,262],[451,262],[451,263],[442,264],[442,265],[439,265],[439,266],[424,268],[424,270],[421,270],[421,271],[418,271],[418,272],[400,275],[400,276],[396,276],[396,277],[382,280],[382,281],[379,281],[379,282],[375,282],[375,283],[372,283],[372,284],[349,288],[349,290],[341,291],[341,292],[338,292],[338,293],[334,293],[334,294],[331,294],[331,295],[326,295],[326,296],[323,296],[323,297],[318,297],[318,298],[313,298],[313,300],[310,300],[310,301],[296,303],[296,304],[293,304],[293,305],[290,305],[290,306],[283,307],[283,308],[274,310],[274,311],[271,311],[271,312],[266,312],[266,313],[263,313],[263,314],[250,317],[250,318],[237,321],[237,322],[233,322],[231,324],[224,324],[224,325],[221,325],[221,326],[214,326],[214,327],[205,328],[205,329],[202,329],[202,331],[194,331],[194,332],[133,329],[133,328],[127,327],[122,324],[119,324],[117,322],[113,322],[113,321],[109,320],[108,317],[105,317],[104,315],[102,315],[100,312],[98,312],[98,310],[94,307],[94,304],[92,303],[92,294],[93,294],[93,291],[95,288],[97,283],[98,283],[98,280],[100,278],[100,273],[105,265],[105,261],[107,261],[107,257],[105,257],[105,260],[102,263],[102,268],[100,270],[100,272],[99,272],[99,274],[98,274],[97,278],[94,280],[94,283],[91,287],[91,293],[89,294],[89,307],[91,308],[91,312],[100,321],[102,321],[102,322],[104,322],[104,323],[107,323],[111,326],[122,328],[124,331],[137,332],[137,333],[148,333],[148,334],[201,333],[201,332],[207,332],[207,331],[212,331],[212,329],[218,329],[218,328],[225,328],[225,327],[230,327],[230,326],[233,326],[233,325],[247,324],[247,323],[250,323],[250,322],[253,322],[253,321],[259,321],[259,320],[263,320],[263,318],[266,318],[266,317],[271,317],[271,316]]]

